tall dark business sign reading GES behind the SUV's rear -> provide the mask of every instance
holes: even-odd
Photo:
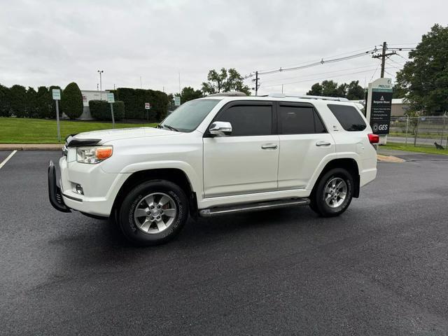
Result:
[[[387,134],[391,126],[392,80],[378,78],[369,83],[367,109],[365,117],[369,120],[374,134],[380,137],[380,144],[387,143]]]

